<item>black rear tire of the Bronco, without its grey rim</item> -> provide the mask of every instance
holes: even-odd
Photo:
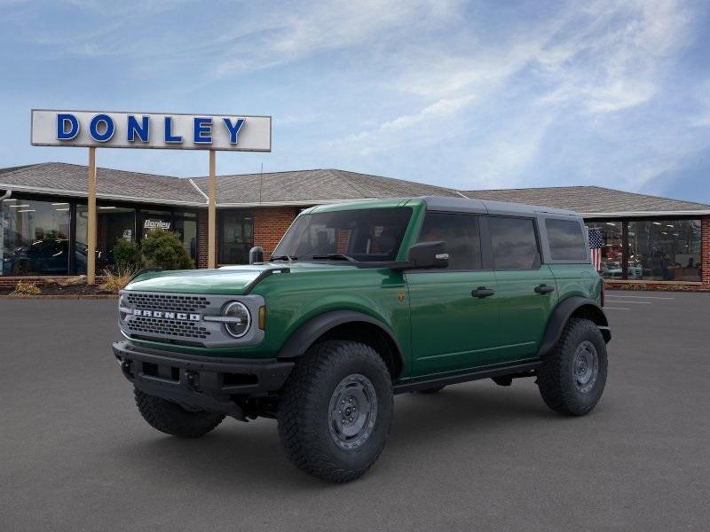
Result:
[[[595,348],[598,367],[593,386],[580,391],[576,384],[575,353],[585,342]],[[604,337],[594,322],[570,318],[555,348],[543,356],[542,362],[537,383],[549,408],[561,414],[583,416],[596,406],[604,392],[608,362]]]

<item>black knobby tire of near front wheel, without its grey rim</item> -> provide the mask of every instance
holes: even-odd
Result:
[[[332,434],[332,404],[343,379],[366,377],[376,396],[374,426],[355,449]],[[390,434],[390,372],[375,349],[356,341],[319,342],[299,358],[279,398],[279,435],[288,458],[304,473],[332,482],[354,481],[375,463]]]

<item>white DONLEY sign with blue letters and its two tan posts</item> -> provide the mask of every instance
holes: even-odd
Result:
[[[216,153],[271,152],[271,116],[32,110],[31,144],[89,148],[86,282],[96,282],[96,148],[209,151],[208,266],[217,266]]]

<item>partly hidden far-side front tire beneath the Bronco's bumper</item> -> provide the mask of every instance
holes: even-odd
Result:
[[[143,419],[153,428],[180,438],[198,438],[209,433],[225,419],[222,414],[207,411],[186,411],[177,403],[148,395],[133,388],[136,405]]]

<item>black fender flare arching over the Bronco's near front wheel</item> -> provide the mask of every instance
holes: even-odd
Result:
[[[323,334],[338,325],[348,323],[366,323],[379,328],[397,349],[394,355],[399,357],[398,362],[404,367],[405,360],[402,356],[402,348],[399,346],[399,342],[390,327],[375,317],[369,316],[364,312],[358,312],[357,310],[329,310],[316,317],[312,317],[304,324],[300,325],[296,329],[296,332],[291,334],[280,348],[279,354],[276,357],[279,359],[289,359],[302,356],[306,350],[312,346],[313,342],[318,340]]]

